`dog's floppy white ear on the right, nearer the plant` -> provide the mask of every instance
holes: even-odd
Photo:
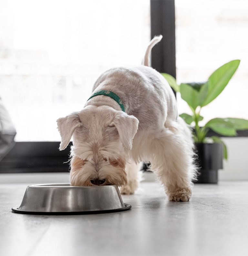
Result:
[[[123,146],[127,150],[132,149],[132,141],[138,130],[139,120],[123,111],[118,111],[110,125],[116,127]]]

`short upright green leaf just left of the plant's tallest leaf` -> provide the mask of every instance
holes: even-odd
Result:
[[[181,98],[185,100],[194,110],[199,106],[199,94],[197,90],[187,83],[180,85]]]

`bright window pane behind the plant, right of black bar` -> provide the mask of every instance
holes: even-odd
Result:
[[[214,117],[248,118],[248,5],[245,0],[175,0],[177,81],[204,82],[224,63],[240,59],[229,84],[201,111]],[[178,97],[179,113],[191,113]]]

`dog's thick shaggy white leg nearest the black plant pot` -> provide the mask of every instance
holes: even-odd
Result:
[[[164,185],[170,201],[189,201],[195,178],[193,143],[184,125],[165,128],[151,143],[151,170]]]

